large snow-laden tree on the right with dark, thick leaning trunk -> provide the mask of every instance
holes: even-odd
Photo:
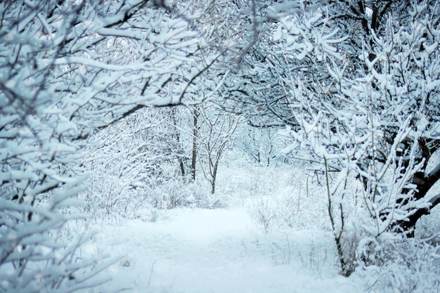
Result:
[[[361,183],[373,237],[412,236],[440,203],[428,195],[440,179],[439,165],[428,169],[440,146],[439,15],[439,1],[273,5],[259,43],[225,82],[240,112],[287,125],[292,152],[309,150],[302,157],[321,164],[344,274],[349,178]]]

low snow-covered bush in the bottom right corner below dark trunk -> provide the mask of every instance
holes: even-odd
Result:
[[[390,238],[387,238],[390,237]],[[440,250],[415,239],[391,235],[364,238],[357,250],[362,259],[356,271],[370,292],[438,292]]]

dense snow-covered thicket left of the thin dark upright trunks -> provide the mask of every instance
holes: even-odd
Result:
[[[222,205],[207,195],[202,178],[192,181],[190,174],[182,174],[185,142],[174,114],[139,110],[93,136],[80,163],[91,172],[89,188],[81,194],[87,212],[97,219],[148,219],[141,211]]]

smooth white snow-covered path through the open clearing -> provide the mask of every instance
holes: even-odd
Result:
[[[363,292],[337,275],[320,237],[309,234],[264,235],[238,208],[177,209],[155,223],[104,226],[95,245],[123,257],[101,291]]]

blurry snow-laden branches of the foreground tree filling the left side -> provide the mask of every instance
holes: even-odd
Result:
[[[0,13],[0,291],[83,291],[101,282],[75,257],[86,237],[57,238],[81,216],[66,207],[85,188],[83,150],[138,109],[183,103],[162,89],[200,32],[141,0],[2,1]]]

